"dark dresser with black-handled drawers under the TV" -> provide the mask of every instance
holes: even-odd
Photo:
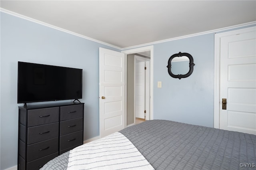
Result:
[[[84,103],[19,107],[18,170],[39,170],[83,144]]]

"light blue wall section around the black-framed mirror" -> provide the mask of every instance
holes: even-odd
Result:
[[[166,67],[179,52],[190,53],[195,63],[192,75],[183,79],[172,78]],[[155,44],[154,85],[154,119],[213,127],[214,34]]]

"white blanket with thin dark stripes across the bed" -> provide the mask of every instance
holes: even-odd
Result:
[[[154,170],[123,134],[116,132],[70,150],[67,170]]]

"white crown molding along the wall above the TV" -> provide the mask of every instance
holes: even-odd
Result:
[[[122,50],[122,48],[117,47],[117,46],[114,46],[114,45],[111,45],[111,44],[109,44],[109,43],[101,42],[101,41],[95,40],[95,39],[93,39],[93,38],[86,37],[86,36],[83,36],[83,35],[81,35],[81,34],[77,34],[77,33],[75,33],[75,32],[68,31],[68,30],[65,30],[65,29],[60,28],[60,27],[56,27],[56,26],[53,26],[53,25],[51,25],[51,24],[47,24],[47,23],[42,22],[42,21],[39,21],[39,20],[35,20],[35,19],[33,19],[33,18],[30,18],[30,17],[24,16],[24,15],[18,14],[18,13],[16,13],[16,12],[12,12],[12,11],[6,10],[6,9],[4,9],[4,8],[0,8],[0,12],[4,12],[4,13],[6,13],[6,14],[10,14],[10,15],[12,15],[12,16],[16,16],[16,17],[18,17],[18,18],[22,18],[22,19],[24,19],[24,20],[28,20],[28,21],[35,22],[35,23],[40,24],[40,25],[43,25],[43,26],[47,26],[47,27],[53,28],[53,29],[55,29],[55,30],[59,30],[59,31],[62,31],[62,32],[66,32],[66,33],[72,34],[72,35],[74,35],[74,36],[78,36],[78,37],[81,37],[81,38],[84,38],[84,39],[87,39],[87,40],[90,40],[90,41],[93,41],[93,42],[101,43],[101,44],[108,45],[108,46],[110,46],[110,47],[114,47],[114,48],[116,48],[116,49]]]

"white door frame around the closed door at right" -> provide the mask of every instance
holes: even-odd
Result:
[[[220,128],[220,38],[254,31],[256,26],[215,34],[214,39],[214,128]]]

